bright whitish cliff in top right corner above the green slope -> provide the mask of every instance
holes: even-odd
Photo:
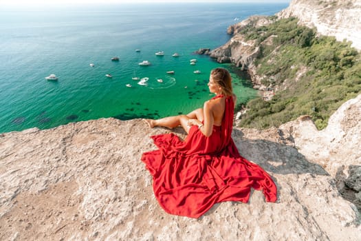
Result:
[[[316,28],[322,35],[335,36],[338,41],[352,41],[361,50],[360,0],[292,0],[278,17],[297,17],[299,23]]]

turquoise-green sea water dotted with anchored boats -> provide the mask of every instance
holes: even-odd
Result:
[[[0,133],[111,116],[127,120],[186,114],[211,97],[206,83],[210,70],[219,66],[232,72],[239,100],[248,101],[257,93],[232,65],[193,52],[226,43],[229,25],[251,15],[272,15],[287,5],[0,8]],[[164,56],[156,56],[158,51]],[[172,56],[175,52],[179,57]],[[111,61],[113,56],[119,61]],[[190,59],[197,59],[196,65]],[[138,65],[144,60],[151,65]],[[166,74],[169,70],[175,74]],[[58,81],[45,80],[50,74]],[[134,76],[149,78],[147,85],[139,85]]]

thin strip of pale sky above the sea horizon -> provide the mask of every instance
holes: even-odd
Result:
[[[54,5],[54,4],[68,4],[68,3],[79,3],[79,4],[91,4],[91,3],[170,3],[170,2],[203,2],[203,3],[289,3],[291,0],[0,0],[1,5]]]

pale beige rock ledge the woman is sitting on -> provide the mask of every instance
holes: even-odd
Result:
[[[149,136],[168,129],[102,118],[1,134],[0,240],[361,240],[360,213],[340,196],[342,185],[360,187],[360,118],[358,96],[322,131],[307,116],[234,128],[240,153],[274,178],[278,201],[254,191],[198,220],[160,208],[140,161],[155,149]]]

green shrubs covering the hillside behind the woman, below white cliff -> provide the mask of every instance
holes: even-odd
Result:
[[[271,90],[279,86],[280,91],[270,101],[250,101],[241,126],[278,127],[307,114],[323,129],[342,103],[361,93],[360,53],[350,42],[316,36],[297,21],[281,19],[243,30],[246,39],[261,46],[255,63],[257,74],[265,76],[262,84]]]

